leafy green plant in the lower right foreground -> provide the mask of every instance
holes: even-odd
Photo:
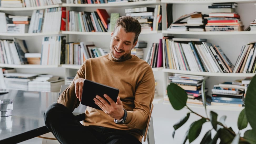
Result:
[[[189,140],[189,143],[194,141],[200,134],[202,125],[205,122],[211,122],[211,125],[213,128],[211,130],[216,131],[216,135],[211,138],[211,130],[205,133],[203,139],[201,140],[200,144],[216,144],[216,141],[220,138],[220,144],[255,144],[256,143],[256,76],[254,76],[250,82],[250,85],[248,87],[247,93],[246,93],[246,99],[245,99],[245,108],[240,112],[238,117],[238,133],[235,133],[231,127],[227,127],[225,125],[225,119],[226,116],[222,116],[217,120],[218,114],[210,111],[210,117],[208,117],[208,113],[206,111],[206,105],[205,105],[205,81],[202,83],[202,100],[206,112],[206,117],[201,116],[200,114],[194,112],[191,110],[187,105],[186,101],[188,99],[188,95],[181,87],[178,85],[171,83],[167,87],[167,94],[169,97],[169,100],[171,102],[171,105],[175,110],[181,110],[182,108],[186,107],[190,110],[179,122],[174,124],[174,132],[173,137],[175,135],[175,130],[177,130],[179,127],[181,127],[186,121],[188,120],[190,113],[194,113],[195,115],[198,115],[201,117],[199,120],[193,122],[188,131],[185,133],[185,139],[183,143],[185,143],[187,140]],[[244,133],[244,137],[240,137],[240,130],[247,127],[248,122],[250,123],[252,130],[247,130]]]

